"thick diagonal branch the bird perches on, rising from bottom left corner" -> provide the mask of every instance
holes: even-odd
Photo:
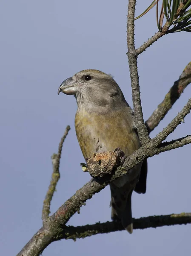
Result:
[[[68,233],[68,227],[66,227],[67,221],[71,218],[72,215],[74,215],[75,212],[79,212],[80,207],[82,205],[85,205],[86,200],[90,199],[95,193],[100,192],[100,190],[104,189],[105,186],[108,185],[108,183],[111,180],[115,180],[118,177],[121,177],[124,174],[128,174],[129,177],[134,175],[134,172],[132,171],[132,168],[136,166],[138,163],[142,162],[144,158],[152,157],[156,154],[160,154],[161,152],[168,151],[174,148],[182,147],[182,145],[186,145],[191,143],[191,135],[181,138],[175,141],[161,143],[160,147],[154,147],[152,148],[152,140],[148,143],[148,145],[142,146],[137,151],[135,151],[131,156],[129,156],[123,165],[123,167],[118,167],[115,172],[111,175],[106,175],[100,180],[90,180],[88,183],[86,183],[81,189],[79,189],[70,199],[66,201],[65,204],[63,204],[57,212],[55,212],[51,217],[47,219],[47,221],[44,224],[44,227],[42,227],[33,237],[32,239],[26,244],[26,246],[18,253],[17,256],[37,256],[40,255],[40,253],[43,252],[43,250],[51,244],[53,241],[57,241],[60,239],[63,239],[63,234],[69,234],[67,236],[71,236],[70,233]],[[99,182],[98,182],[99,181]],[[171,216],[172,217],[172,216]],[[175,217],[175,216],[174,216]],[[162,218],[162,216],[161,216]],[[166,219],[166,224],[161,224],[161,219],[158,220],[158,225],[163,226],[168,224],[168,218],[164,216],[164,220]],[[147,222],[145,222],[147,220]],[[180,220],[180,219],[179,219]],[[136,220],[135,220],[136,221]],[[148,221],[152,221],[149,219],[142,218],[143,223],[141,223],[142,228],[146,227],[152,227],[147,226],[149,223]],[[157,221],[157,219],[155,219]],[[181,220],[183,221],[183,220]],[[172,224],[182,224],[183,222],[171,222]],[[185,222],[186,223],[186,220]],[[188,223],[190,223],[190,220],[188,220]],[[110,225],[110,224],[109,224]],[[116,224],[111,224],[116,225]],[[120,225],[120,224],[118,224]],[[91,227],[91,226],[90,226]],[[114,226],[116,227],[116,226]],[[136,222],[135,222],[135,228]],[[157,226],[156,226],[157,227]],[[141,227],[137,227],[141,228]],[[115,230],[114,230],[115,231]],[[110,232],[110,231],[109,231]],[[87,233],[87,232],[86,232]],[[99,233],[99,232],[98,232]],[[90,233],[89,233],[90,234]],[[92,233],[92,235],[95,233]],[[80,235],[81,237],[82,235]],[[72,233],[71,237],[74,239],[74,233]]]

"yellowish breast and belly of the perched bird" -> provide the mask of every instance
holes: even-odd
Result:
[[[123,150],[126,156],[132,154],[140,147],[132,122],[128,108],[111,111],[107,115],[78,109],[75,129],[83,156],[89,158],[94,153],[113,151],[117,147]]]

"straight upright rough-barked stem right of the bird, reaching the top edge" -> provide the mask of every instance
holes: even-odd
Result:
[[[143,111],[140,99],[139,76],[137,71],[137,54],[134,46],[134,12],[136,0],[128,1],[127,15],[127,47],[128,47],[128,64],[131,77],[132,97],[134,106],[135,123],[139,134],[140,142],[145,145],[150,138],[148,130],[143,120]]]

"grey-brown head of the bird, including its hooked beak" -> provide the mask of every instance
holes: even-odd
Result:
[[[109,109],[127,106],[123,93],[111,75],[99,70],[83,70],[66,79],[58,88],[76,97],[78,108],[105,112]]]

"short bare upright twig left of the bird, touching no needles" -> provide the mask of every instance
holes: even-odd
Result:
[[[42,211],[43,224],[48,219],[48,216],[50,214],[51,200],[52,200],[52,197],[53,197],[54,192],[56,190],[57,182],[60,179],[60,172],[59,172],[60,157],[61,157],[61,153],[62,153],[63,143],[64,143],[64,140],[66,139],[66,136],[68,135],[69,130],[70,130],[70,126],[68,125],[66,127],[66,130],[64,132],[63,137],[60,140],[59,147],[58,147],[58,153],[53,154],[51,156],[53,172],[52,172],[51,182],[50,182],[50,185],[48,187],[48,191],[46,193],[45,200],[43,202],[43,211]]]

